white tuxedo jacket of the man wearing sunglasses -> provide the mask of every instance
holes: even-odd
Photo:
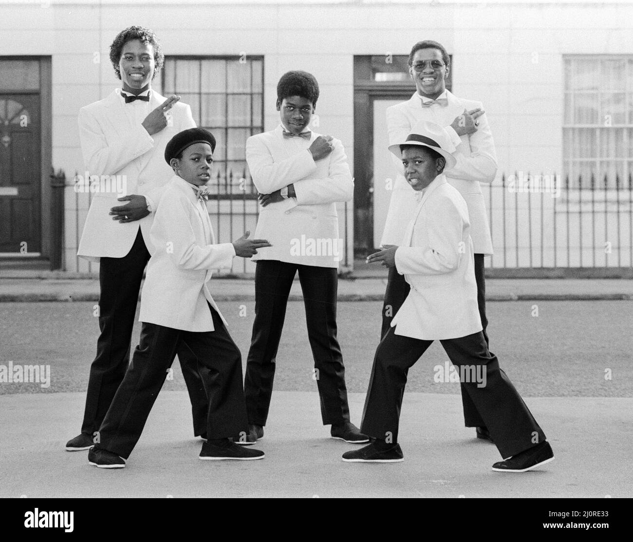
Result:
[[[446,98],[448,98],[447,106],[422,107],[420,96],[416,93],[411,96],[411,99],[387,108],[389,144],[404,141],[411,133],[411,128],[420,120],[435,122],[446,129],[456,147],[453,156],[457,160],[455,167],[446,170],[446,179],[460,191],[468,205],[470,236],[475,253],[492,254],[492,238],[486,204],[479,186],[480,182],[492,182],[497,172],[497,154],[492,133],[484,114],[477,119],[479,127],[476,132],[470,136],[458,136],[450,127],[451,122],[464,110],[470,111],[482,107],[482,104],[478,101],[457,98],[449,91],[446,91]],[[398,176],[391,193],[382,244],[398,244],[401,241],[406,225],[415,210],[413,198],[411,198],[413,189],[402,175],[402,163],[395,156],[393,158]]]

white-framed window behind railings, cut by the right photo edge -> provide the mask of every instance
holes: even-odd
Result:
[[[564,63],[563,161],[570,186],[627,186],[633,175],[633,56],[570,55]]]

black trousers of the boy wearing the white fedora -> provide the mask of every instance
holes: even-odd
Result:
[[[373,359],[361,422],[363,433],[398,442],[408,370],[432,342],[396,335],[393,327],[389,329]],[[508,458],[546,439],[510,379],[499,369],[496,356],[488,351],[482,332],[440,342],[456,368],[470,369],[465,374],[471,377],[462,379],[463,389],[480,413],[501,457]],[[472,377],[484,374],[485,381]]]

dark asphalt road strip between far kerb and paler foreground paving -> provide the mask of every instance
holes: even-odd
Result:
[[[98,325],[94,303],[0,303],[0,363],[51,365],[51,386],[0,383],[0,394],[85,391]],[[365,393],[378,343],[380,303],[339,303],[339,339],[349,391]],[[254,303],[220,303],[242,350],[251,337]],[[538,311],[538,316],[532,316]],[[491,350],[525,396],[633,397],[633,317],[630,301],[489,303]],[[139,325],[134,331],[139,337]],[[135,343],[134,343],[135,344]],[[460,393],[434,382],[448,358],[434,343],[410,370],[411,392]],[[303,303],[291,302],[277,356],[277,391],[315,391]],[[605,379],[610,370],[611,379]],[[165,389],[184,388],[180,369]]]

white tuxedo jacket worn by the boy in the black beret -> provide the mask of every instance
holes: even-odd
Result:
[[[215,244],[206,205],[192,185],[173,175],[165,187],[149,238],[154,253],[141,294],[141,322],[186,331],[213,331],[207,301],[218,309],[208,282],[213,269],[230,269],[232,243]]]

